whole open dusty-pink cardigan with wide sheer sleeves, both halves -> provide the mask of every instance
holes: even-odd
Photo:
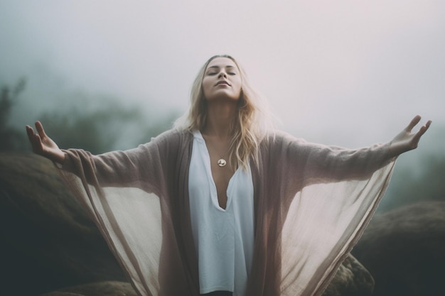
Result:
[[[127,151],[65,150],[60,174],[139,295],[199,295],[188,205],[193,135],[167,131]],[[254,183],[249,296],[321,295],[390,180],[389,143],[348,150],[274,133]]]

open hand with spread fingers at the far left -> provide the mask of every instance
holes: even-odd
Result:
[[[28,139],[33,148],[33,152],[42,155],[49,160],[53,160],[56,163],[63,163],[63,160],[65,160],[65,153],[60,150],[51,138],[46,136],[40,121],[36,121],[36,130],[37,133],[34,132],[31,126],[26,126],[26,133],[28,133]]]

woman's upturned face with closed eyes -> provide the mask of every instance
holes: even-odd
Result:
[[[241,75],[237,65],[228,57],[215,57],[205,69],[203,92],[207,100],[238,100],[241,94]]]

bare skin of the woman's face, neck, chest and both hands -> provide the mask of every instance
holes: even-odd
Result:
[[[203,77],[203,92],[207,100],[208,121],[201,131],[210,155],[213,180],[218,192],[220,207],[227,204],[227,186],[236,170],[236,165],[227,163],[225,167],[217,165],[218,159],[225,158],[229,150],[231,133],[230,124],[237,114],[237,102],[242,91],[242,77],[235,62],[227,57],[217,57],[205,70]],[[390,144],[390,156],[394,157],[417,148],[420,138],[428,130],[431,121],[420,126],[418,131],[413,128],[419,124],[421,117],[414,116]],[[26,132],[33,152],[42,155],[55,163],[63,163],[65,153],[45,133],[40,121],[36,121],[35,132],[31,126],[26,126]]]

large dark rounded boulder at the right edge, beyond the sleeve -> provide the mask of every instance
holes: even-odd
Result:
[[[375,296],[445,295],[445,202],[376,215],[352,253],[375,279]]]

